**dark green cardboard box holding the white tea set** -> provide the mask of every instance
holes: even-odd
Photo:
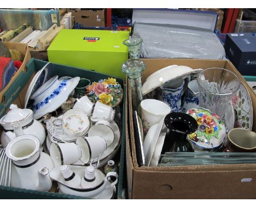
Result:
[[[17,103],[19,107],[24,106],[24,99],[26,95],[26,91],[28,88],[28,85],[32,81],[32,76],[36,74],[37,71],[43,68],[43,66],[47,62],[44,62],[43,60],[38,60],[32,58],[26,65],[27,68],[27,76],[31,77],[30,81],[22,82],[25,79],[22,77],[21,84],[26,85],[24,90],[22,90],[22,93],[20,94],[20,103]],[[65,65],[59,65],[59,64],[53,64],[53,70],[51,71],[51,76],[59,75],[59,77],[63,76],[80,76],[80,77],[86,77],[91,80],[91,82],[98,81],[99,79],[108,78],[108,75],[100,74],[94,71],[84,70],[84,69],[78,69],[78,68],[72,68],[70,66]],[[124,100],[123,103],[120,103],[120,112],[123,113],[123,122],[121,124],[121,127],[123,127],[123,131],[120,134],[121,139],[121,146],[120,150],[117,155],[115,155],[115,158],[120,158],[119,160],[119,179],[118,179],[118,185],[117,185],[117,193],[116,198],[120,199],[122,197],[122,188],[123,188],[123,171],[124,171],[124,152],[125,152],[125,105],[126,103],[126,84],[123,79],[117,78],[117,81],[122,85],[124,89]],[[11,104],[12,102],[10,102]],[[22,103],[22,105],[21,105]],[[1,115],[2,117],[2,115]],[[0,117],[0,118],[1,118]],[[0,129],[0,134],[2,133]],[[120,153],[120,154],[119,154]],[[53,182],[53,188],[49,192],[40,192],[40,191],[34,191],[30,189],[22,189],[22,188],[14,188],[14,187],[6,187],[6,186],[0,186],[0,199],[85,199],[84,197],[78,197],[75,195],[69,195],[69,194],[62,194],[62,193],[55,193],[57,183]]]

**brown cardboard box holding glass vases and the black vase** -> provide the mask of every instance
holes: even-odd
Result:
[[[251,95],[256,112],[256,94],[229,60],[143,59],[142,82],[168,65],[225,68],[237,74]],[[129,93],[131,89],[129,88]],[[129,94],[128,93],[128,94]],[[127,94],[126,94],[127,95]],[[256,161],[253,164],[212,166],[138,167],[133,134],[131,94],[126,102],[126,167],[129,198],[132,199],[255,199]],[[256,114],[253,116],[256,130]]]

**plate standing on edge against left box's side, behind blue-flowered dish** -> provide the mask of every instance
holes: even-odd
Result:
[[[25,96],[24,108],[27,108],[27,103],[30,100],[31,95],[40,88],[48,79],[51,74],[51,63],[47,63],[44,65],[42,69],[40,69],[37,74],[33,77],[30,85],[27,88],[27,93]]]

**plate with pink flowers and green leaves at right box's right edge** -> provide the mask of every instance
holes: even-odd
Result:
[[[241,82],[240,88],[232,97],[232,105],[235,110],[235,127],[252,130],[253,108],[252,100],[245,85]]]

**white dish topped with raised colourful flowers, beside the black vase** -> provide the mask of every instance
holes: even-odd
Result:
[[[225,126],[217,114],[204,108],[189,109],[187,114],[196,119],[198,124],[197,131],[188,135],[195,151],[214,151],[223,144]]]

